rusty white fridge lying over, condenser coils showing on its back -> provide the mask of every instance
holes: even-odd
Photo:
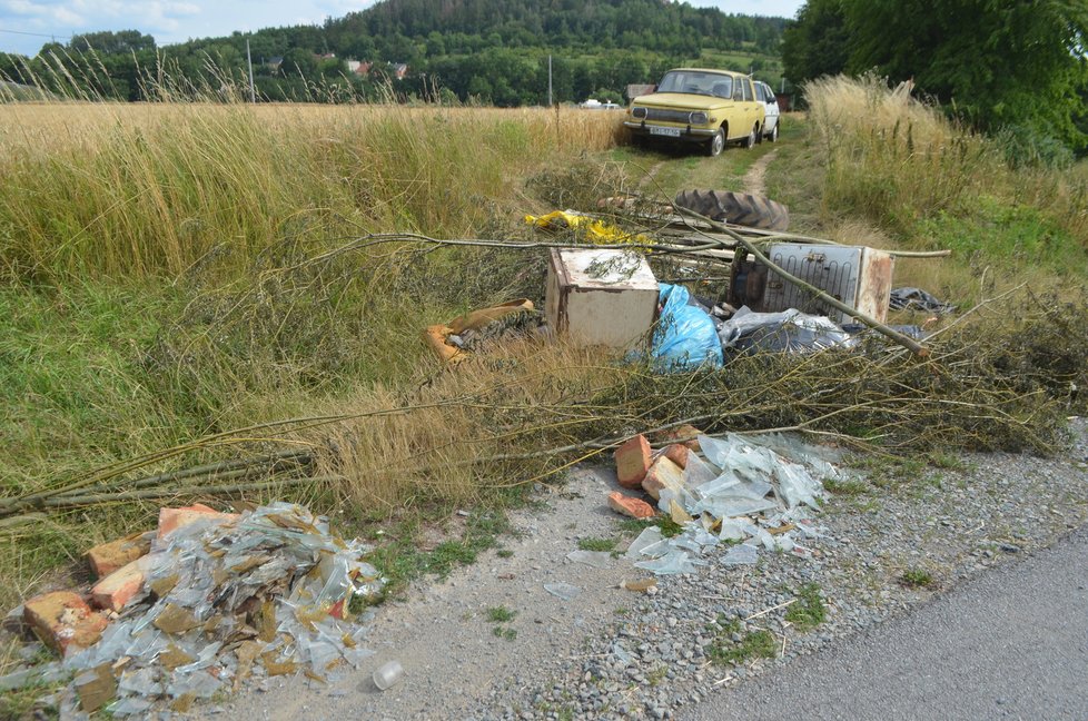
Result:
[[[859,313],[880,323],[887,319],[894,265],[890,254],[863,246],[780,243],[770,246],[766,256],[782,270]],[[821,302],[754,259],[733,263],[729,303],[735,308],[746,305],[756,313],[797,308],[802,313],[828,316],[837,323],[849,323],[851,319],[848,314]]]

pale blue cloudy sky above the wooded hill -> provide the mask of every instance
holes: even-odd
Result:
[[[689,0],[724,12],[792,18],[803,0]],[[33,56],[73,33],[139,30],[158,45],[288,24],[316,24],[373,0],[0,0],[0,52]]]

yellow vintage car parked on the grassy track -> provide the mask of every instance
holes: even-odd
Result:
[[[752,78],[730,70],[677,68],[656,91],[639,96],[624,126],[636,138],[700,142],[716,156],[726,142],[751,148],[763,134],[763,103]]]

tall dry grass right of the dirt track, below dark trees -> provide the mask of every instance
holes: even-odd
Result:
[[[1088,182],[1047,168],[1013,170],[1007,147],[949,120],[874,75],[809,83],[809,118],[824,149],[824,206],[910,239],[919,219],[970,216],[980,198],[1044,214],[1088,247]],[[1013,148],[1015,152],[1016,149]]]

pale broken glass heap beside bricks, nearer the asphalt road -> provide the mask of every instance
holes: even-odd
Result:
[[[662,488],[657,507],[683,532],[665,539],[645,529],[627,549],[634,565],[657,575],[694,573],[710,563],[710,549],[724,565],[753,564],[758,550],[808,557],[809,539],[824,535],[810,517],[824,496],[823,480],[839,471],[821,446],[792,436],[699,436],[702,456],[688,455],[682,485]]]

